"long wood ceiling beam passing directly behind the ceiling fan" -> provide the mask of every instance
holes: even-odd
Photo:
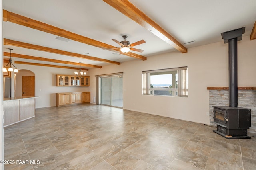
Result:
[[[64,38],[67,38],[67,39],[78,41],[80,43],[85,43],[85,44],[88,44],[88,45],[92,45],[92,46],[99,47],[99,48],[102,48],[102,49],[116,48],[112,45],[108,45],[108,44],[102,43],[100,41],[96,41],[94,39],[90,39],[88,37],[84,37],[82,35],[78,35],[78,34],[70,32],[70,31],[66,31],[64,29],[60,29],[58,27],[54,27],[52,25],[48,25],[48,24],[42,23],[40,21],[36,21],[36,20],[31,19],[31,18],[27,18],[25,16],[21,16],[19,14],[15,14],[13,12],[9,12],[7,10],[3,10],[3,21],[6,21],[6,22],[9,21],[9,22],[12,22],[12,23],[16,23],[16,24],[19,24],[19,25],[23,25],[23,26],[26,26],[26,27],[33,28],[33,29],[37,29],[39,31],[44,31],[46,33],[58,35],[60,37],[64,37]],[[116,51],[120,52],[120,49],[113,49],[113,50],[115,52]],[[141,59],[141,60],[146,60],[147,59],[146,57],[144,57],[142,55],[138,55],[138,54],[135,54],[135,53],[132,53],[132,52],[123,53],[123,54],[127,55],[127,56],[130,56],[130,57],[134,57],[136,59]],[[94,57],[94,60],[95,59],[96,59],[96,57]],[[99,60],[99,61],[101,61],[101,60]]]

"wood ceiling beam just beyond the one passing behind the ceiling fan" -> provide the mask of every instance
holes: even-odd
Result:
[[[91,56],[88,56],[88,55],[82,55],[82,54],[72,53],[72,52],[68,52],[68,51],[52,49],[52,48],[48,48],[48,47],[42,47],[42,46],[39,46],[39,45],[23,43],[23,42],[20,42],[20,41],[14,41],[14,40],[5,39],[5,38],[4,38],[4,45],[14,45],[16,47],[22,47],[22,48],[27,48],[27,49],[45,51],[45,52],[49,52],[49,53],[55,53],[55,54],[60,54],[60,55],[67,55],[67,56],[78,57],[78,58],[82,58],[82,59],[96,58],[96,57],[91,57]],[[97,59],[94,59],[94,60],[120,65],[120,62],[110,61],[110,60],[106,60],[106,59],[99,59],[99,58],[97,58]],[[91,65],[91,67],[100,68],[101,66]]]

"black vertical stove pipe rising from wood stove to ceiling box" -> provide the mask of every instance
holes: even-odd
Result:
[[[228,40],[229,107],[238,105],[237,38]]]

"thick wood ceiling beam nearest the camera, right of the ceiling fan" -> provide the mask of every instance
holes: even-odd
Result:
[[[166,32],[162,27],[160,27],[156,22],[150,19],[146,14],[140,11],[136,6],[134,6],[128,0],[103,0],[116,10],[120,11],[124,15],[128,16],[136,23],[140,24],[142,27],[146,28],[148,31],[152,32],[154,35],[164,40],[166,43],[172,45],[175,49],[181,53],[187,53],[188,49],[184,47],[178,40],[176,40],[172,35]]]

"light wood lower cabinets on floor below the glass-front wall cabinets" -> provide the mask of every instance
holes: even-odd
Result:
[[[56,106],[90,102],[90,92],[56,93]]]

